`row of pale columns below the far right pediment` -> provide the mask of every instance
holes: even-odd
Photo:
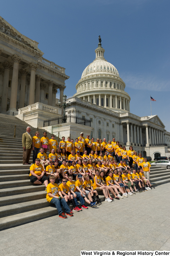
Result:
[[[164,132],[155,128],[152,128],[148,125],[145,126],[146,128],[146,144],[154,144],[154,145],[161,145],[164,144]],[[133,132],[134,131],[134,132]],[[137,134],[136,134],[137,133]],[[131,141],[130,141],[131,136]],[[142,143],[142,127],[130,124],[130,133],[129,133],[129,123],[127,122],[127,138],[128,143]]]

